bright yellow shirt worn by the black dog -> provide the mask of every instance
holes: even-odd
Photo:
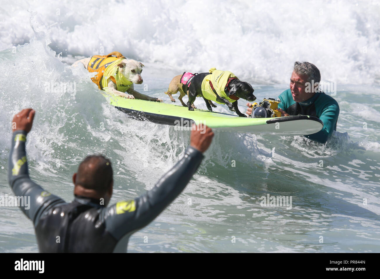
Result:
[[[226,95],[224,88],[226,87],[229,78],[233,77],[237,79],[237,77],[229,71],[221,71],[217,70],[216,68],[209,69],[209,73],[209,75],[204,77],[201,85],[202,94],[204,98],[217,102],[219,104],[223,104],[217,101],[216,94],[214,93],[210,85],[211,82],[212,86],[214,87],[215,91],[220,97],[227,99],[231,103],[236,102],[236,99],[231,99],[229,96]]]

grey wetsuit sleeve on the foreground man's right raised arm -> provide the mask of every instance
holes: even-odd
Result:
[[[182,192],[199,167],[203,154],[188,146],[184,156],[155,184],[135,200],[106,209],[106,230],[117,240],[152,222]]]

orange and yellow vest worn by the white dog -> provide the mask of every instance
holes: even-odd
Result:
[[[116,55],[116,57],[112,57]],[[97,72],[91,80],[98,85],[99,89],[108,87],[108,79],[117,85],[117,91],[127,91],[133,82],[129,81],[121,74],[117,66],[125,57],[120,52],[111,52],[108,55],[94,55],[90,58],[87,70],[90,73]]]

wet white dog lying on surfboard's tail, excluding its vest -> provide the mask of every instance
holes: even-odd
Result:
[[[120,57],[123,57],[119,52],[113,52],[113,55],[120,55]],[[78,67],[78,65],[83,65],[84,68],[86,68],[88,71],[93,72],[93,69],[88,69],[88,65],[90,60],[93,57],[90,58],[84,58],[78,61],[75,61],[72,65],[72,67]],[[96,61],[96,60],[95,60]],[[93,62],[94,66],[97,62]],[[99,62],[100,64],[100,62]],[[133,84],[142,84],[142,77],[141,77],[141,72],[142,72],[142,67],[144,65],[141,62],[138,62],[136,60],[132,59],[123,59],[121,60],[117,65],[114,67],[119,67],[120,74],[122,75],[123,81],[127,80],[130,84],[128,85],[123,85],[119,84],[119,81],[116,80],[114,77],[109,77],[106,81],[100,81],[101,84],[107,85],[107,87],[103,87],[99,85],[97,82],[93,80],[93,82],[97,83],[99,85],[100,89],[106,90],[110,93],[113,93],[117,96],[128,98],[128,99],[142,99],[146,101],[156,101],[156,102],[162,102],[161,99],[158,98],[153,98],[149,97],[147,95],[141,94],[138,91],[135,91],[133,88]],[[105,68],[104,68],[105,69]],[[104,71],[102,71],[103,73]],[[103,75],[103,74],[101,74]],[[128,89],[123,92],[118,89],[127,87]]]

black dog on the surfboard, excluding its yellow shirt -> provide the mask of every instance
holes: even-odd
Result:
[[[201,88],[203,79],[209,74],[210,73],[201,73],[193,77],[193,80],[188,89],[188,102],[187,102],[188,110],[194,110],[191,104],[195,101],[195,98],[197,96],[200,96],[206,102],[207,109],[212,111],[211,105],[209,104],[208,99],[206,99],[203,96],[203,92]],[[217,102],[226,104],[231,111],[235,111],[237,115],[239,115],[240,117],[247,117],[247,115],[239,111],[239,108],[237,107],[237,99],[243,98],[243,99],[246,99],[247,101],[256,100],[256,97],[253,95],[254,90],[252,86],[248,82],[240,81],[239,79],[232,79],[231,82],[228,83],[228,86],[225,87],[225,92],[227,96],[238,97],[236,98],[236,101],[232,103],[228,101],[227,99],[222,98],[220,96],[220,93],[218,94],[218,92],[216,92],[215,89],[213,89],[213,91],[216,94]]]

